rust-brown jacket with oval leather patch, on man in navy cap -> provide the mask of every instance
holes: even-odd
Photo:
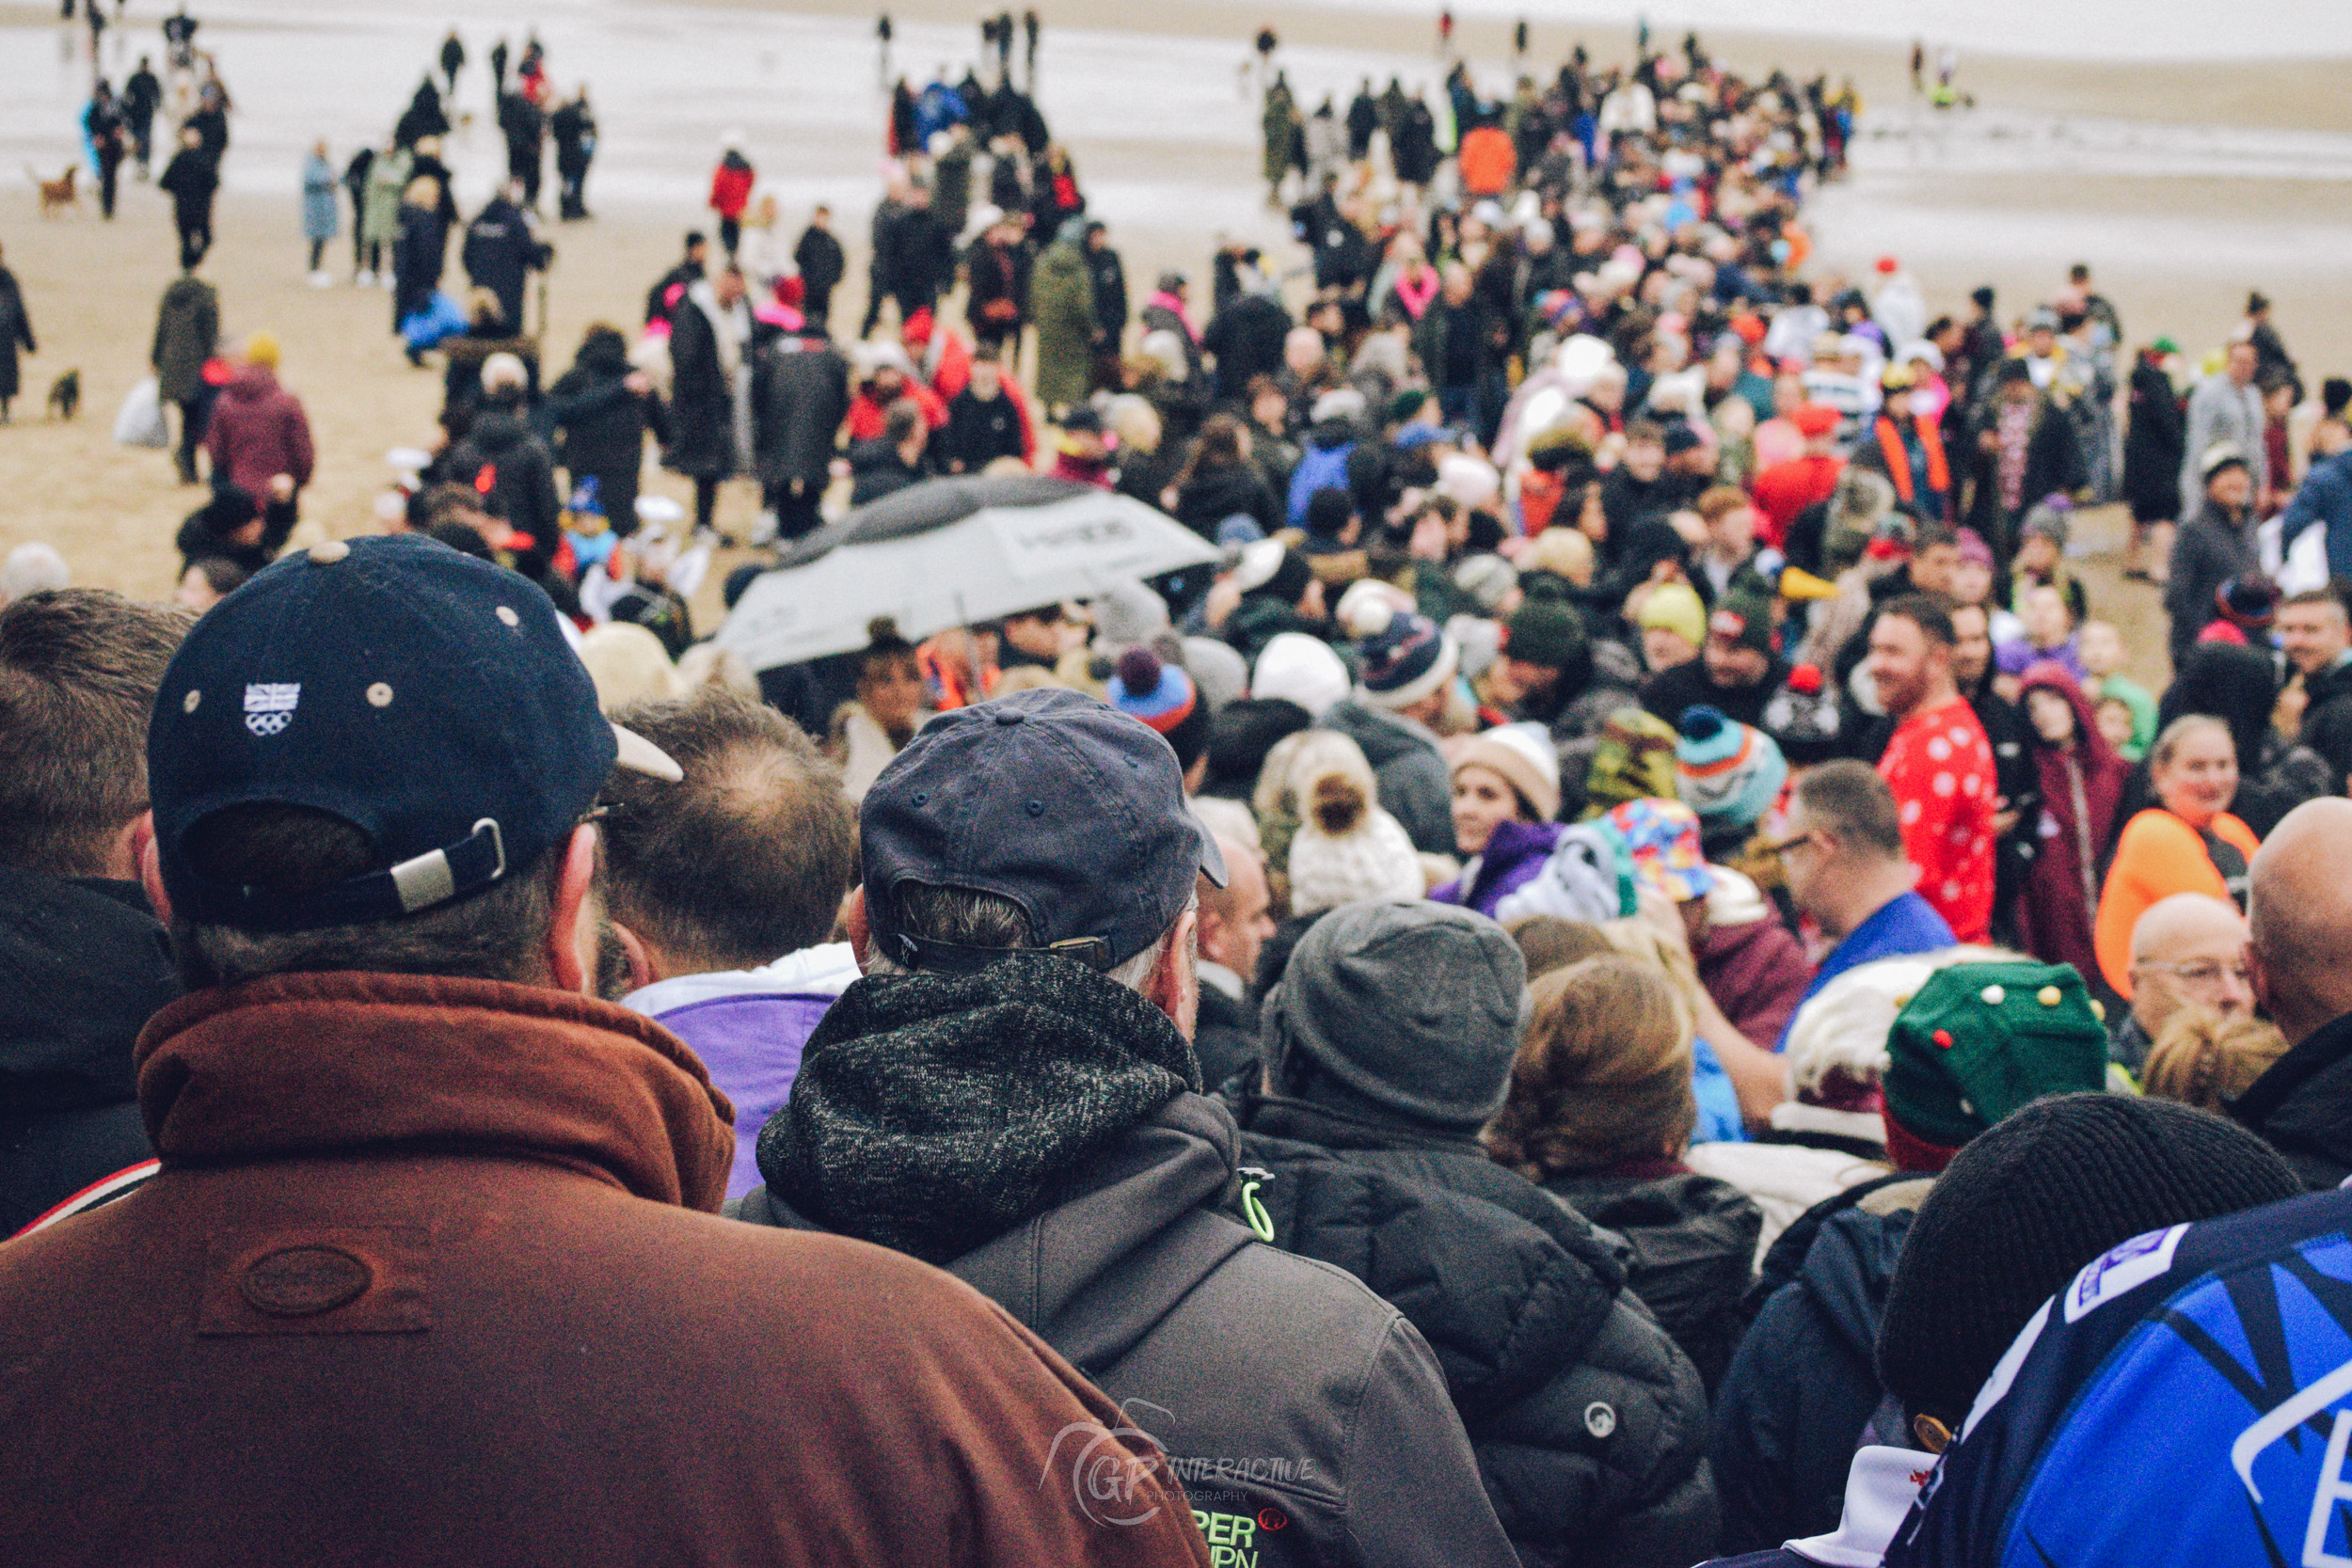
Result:
[[[134,1056],[162,1173],[0,1246],[0,1561],[1209,1561],[1164,1469],[1082,1512],[1127,1422],[976,1291],[696,1213],[727,1100],[647,1018],[275,976]]]

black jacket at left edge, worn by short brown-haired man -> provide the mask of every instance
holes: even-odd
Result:
[[[0,1241],[151,1157],[132,1044],[174,997],[136,882],[0,867]]]

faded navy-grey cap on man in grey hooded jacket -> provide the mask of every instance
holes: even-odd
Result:
[[[1176,924],[1197,875],[1225,886],[1169,743],[1058,689],[955,708],[915,731],[866,792],[858,844],[866,922],[906,969],[964,973],[1002,957],[898,931],[908,882],[1009,898],[1040,947],[1103,971]]]

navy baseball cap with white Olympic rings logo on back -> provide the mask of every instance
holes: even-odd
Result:
[[[680,769],[597,710],[536,583],[421,536],[315,545],[205,614],[148,719],[148,804],[176,917],[242,931],[400,919],[562,844],[614,766]],[[310,806],[381,870],[310,893],[223,884],[205,818]]]

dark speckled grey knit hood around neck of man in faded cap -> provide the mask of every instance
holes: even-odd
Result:
[[[833,1232],[948,1262],[1185,1088],[1200,1067],[1167,1013],[1075,959],[875,976],[809,1037],[760,1175]]]

